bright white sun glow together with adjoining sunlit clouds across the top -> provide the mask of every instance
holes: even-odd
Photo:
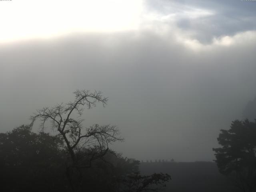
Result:
[[[164,3],[163,3],[164,2]],[[22,0],[0,4],[0,43],[35,38],[52,38],[75,32],[120,32],[146,30],[194,51],[216,46],[232,46],[239,40],[253,38],[255,31],[234,34],[210,34],[208,43],[198,36],[210,33],[201,26],[215,26],[208,21],[218,12],[211,8],[162,1],[161,10],[149,7],[146,0]],[[156,6],[157,7],[157,6]],[[199,28],[198,22],[202,22]],[[183,28],[182,28],[183,25]],[[187,26],[186,26],[187,25]],[[186,27],[184,27],[186,26]],[[245,36],[245,37],[244,37]],[[113,43],[113,42],[111,42]]]

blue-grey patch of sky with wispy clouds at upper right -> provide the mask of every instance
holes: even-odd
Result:
[[[189,38],[210,44],[214,38],[256,30],[256,3],[242,1],[147,1],[152,20],[178,28]],[[153,19],[154,18],[154,19]]]

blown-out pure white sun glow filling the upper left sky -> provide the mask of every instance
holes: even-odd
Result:
[[[142,0],[22,0],[1,2],[0,42],[70,32],[138,28]]]

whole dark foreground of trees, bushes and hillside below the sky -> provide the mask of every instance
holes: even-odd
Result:
[[[107,98],[96,91],[74,94],[73,102],[37,110],[29,125],[0,133],[1,191],[256,191],[256,121],[235,120],[229,130],[220,130],[221,147],[213,148],[216,163],[140,164],[109,148],[123,140],[116,126],[83,127],[83,106],[105,106]],[[41,122],[37,133],[32,132],[36,120]]]

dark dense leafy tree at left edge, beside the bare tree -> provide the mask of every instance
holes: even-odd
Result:
[[[0,133],[2,191],[66,191],[62,140],[22,125]]]

